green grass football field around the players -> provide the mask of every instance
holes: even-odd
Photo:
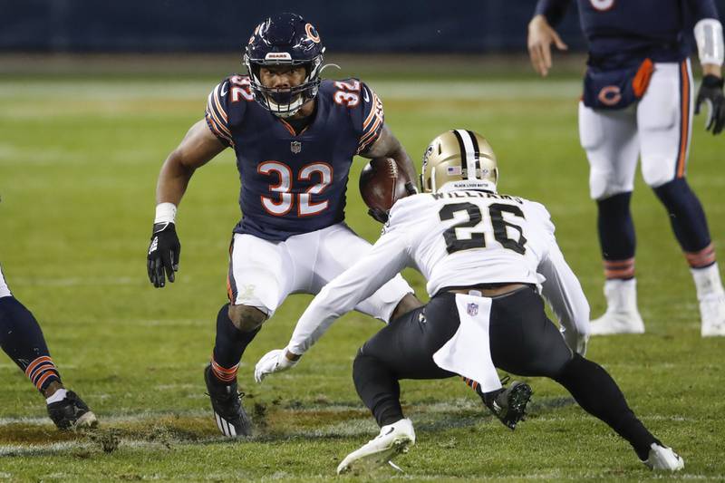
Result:
[[[227,246],[239,217],[232,152],[197,172],[181,204],[177,282],[157,290],[147,279],[160,164],[203,115],[209,90],[234,68],[181,78],[0,80],[0,261],[14,295],[41,322],[64,382],[101,419],[91,434],[56,431],[43,399],[0,356],[0,479],[326,480],[340,459],[377,433],[351,376],[357,347],[380,328],[366,316],[345,316],[294,371],[261,385],[253,381],[258,358],[284,346],[310,300],[294,295],[250,345],[239,372],[256,436],[229,441],[218,435],[202,370],[226,300]],[[498,153],[500,191],[549,208],[593,315],[601,314],[594,203],[575,117],[578,80],[456,78],[455,72],[422,79],[378,72],[365,80],[419,163],[443,130],[483,133]],[[720,248],[723,142],[696,120],[691,186]],[[374,240],[380,227],[362,208],[357,179],[364,163],[358,161],[348,222]],[[686,467],[676,478],[723,480],[725,340],[701,339],[687,265],[639,174],[633,216],[647,333],[595,338],[588,356],[612,372],[652,432],[681,453]],[[427,298],[420,275],[405,275]],[[529,382],[531,415],[515,432],[492,420],[459,380],[403,382],[418,443],[397,460],[405,473],[384,468],[373,478],[654,478],[628,444],[556,383]]]

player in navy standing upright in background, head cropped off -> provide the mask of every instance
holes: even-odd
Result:
[[[528,24],[536,72],[551,68],[551,44],[566,49],[552,27],[569,0],[539,0]],[[705,213],[689,187],[686,163],[693,111],[709,107],[706,129],[725,126],[722,25],[713,0],[577,0],[589,58],[579,103],[579,136],[589,159],[598,208],[607,309],[593,334],[643,333],[634,276],[630,213],[637,158],[644,181],[670,215],[700,302],[701,335],[725,335],[725,291]],[[689,38],[702,66],[693,98]]]

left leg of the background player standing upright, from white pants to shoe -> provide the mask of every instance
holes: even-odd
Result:
[[[579,138],[589,160],[589,189],[596,200],[599,244],[604,260],[604,315],[593,321],[592,334],[643,333],[637,310],[630,211],[639,154],[634,106],[621,111],[594,111],[579,103]]]

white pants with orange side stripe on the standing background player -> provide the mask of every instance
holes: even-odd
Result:
[[[579,139],[589,159],[593,199],[632,191],[638,157],[652,188],[685,175],[692,88],[689,59],[655,63],[643,98],[626,109],[595,111],[579,102]]]

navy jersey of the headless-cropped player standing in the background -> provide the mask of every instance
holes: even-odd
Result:
[[[535,14],[556,25],[570,0],[539,0]],[[589,64],[618,68],[640,63],[680,62],[690,53],[691,29],[702,18],[718,18],[713,0],[577,0],[589,43]]]

